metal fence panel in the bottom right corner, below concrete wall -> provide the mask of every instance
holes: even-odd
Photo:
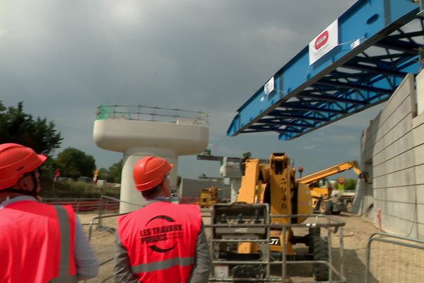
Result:
[[[420,283],[424,280],[424,241],[374,233],[367,243],[365,283]]]

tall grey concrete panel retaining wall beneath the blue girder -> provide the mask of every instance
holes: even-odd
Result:
[[[354,212],[384,231],[424,238],[424,111],[417,116],[417,93],[424,96],[409,74],[363,132],[361,168],[372,183],[358,183]]]

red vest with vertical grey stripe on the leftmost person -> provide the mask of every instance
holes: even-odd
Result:
[[[19,201],[0,209],[0,281],[76,282],[71,206]]]

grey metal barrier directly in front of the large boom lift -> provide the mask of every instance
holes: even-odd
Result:
[[[271,239],[269,237],[269,232],[267,238],[264,240],[252,240],[245,238],[236,239],[214,239],[210,237],[211,243],[211,253],[213,255],[213,251],[215,249],[215,244],[220,243],[241,243],[241,242],[249,242],[249,243],[261,243],[264,244],[264,257],[259,261],[223,261],[218,259],[213,259],[213,274],[209,279],[209,282],[246,282],[245,278],[232,278],[225,277],[220,278],[215,274],[216,266],[221,265],[263,265],[266,268],[266,272],[264,277],[249,279],[249,282],[315,282],[312,279],[312,267],[313,265],[323,265],[328,268],[328,281],[332,283],[343,283],[346,282],[346,277],[344,275],[344,267],[343,267],[343,226],[345,223],[343,221],[338,221],[329,216],[322,214],[314,214],[314,215],[273,215],[271,218],[307,218],[304,223],[301,224],[262,224],[259,226],[266,227],[267,230],[280,230],[283,235],[282,243],[286,242],[285,235],[288,229],[296,231],[296,233],[308,233],[310,228],[317,228],[322,230],[322,236],[326,238],[327,249],[328,249],[328,260],[288,260],[288,256],[286,253],[286,247],[283,245],[283,253],[281,255],[280,260],[271,259],[269,245],[271,244]],[[258,227],[258,224],[243,224],[244,229],[247,227]],[[235,227],[234,224],[206,224],[206,233],[209,235],[213,234],[212,231],[208,231],[211,229],[216,229],[219,227]],[[338,236],[338,243],[334,245],[332,243],[332,236]],[[301,249],[296,248],[297,251],[302,253]],[[213,258],[215,258],[213,256]],[[290,279],[289,279],[290,278]],[[285,281],[290,280],[290,281]],[[312,281],[311,281],[312,280]],[[321,281],[320,281],[321,282]]]

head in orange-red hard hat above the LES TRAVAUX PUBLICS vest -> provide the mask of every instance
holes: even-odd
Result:
[[[169,197],[170,181],[167,176],[172,167],[174,166],[163,158],[155,156],[141,158],[133,171],[136,190],[148,199],[158,195]]]

